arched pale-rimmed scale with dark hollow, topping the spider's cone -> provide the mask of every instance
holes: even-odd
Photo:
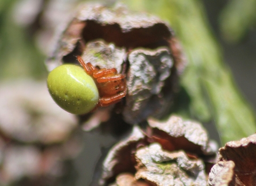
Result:
[[[157,16],[130,12],[124,6],[109,9],[95,4],[81,5],[62,30],[46,61],[48,67],[51,63],[74,63],[74,55],[82,54],[84,44],[95,39],[132,49],[169,47],[173,36],[171,28]]]

